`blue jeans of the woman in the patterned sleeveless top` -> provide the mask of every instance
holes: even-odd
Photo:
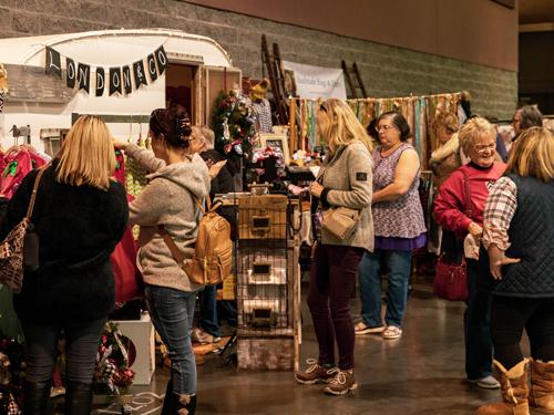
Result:
[[[381,263],[388,277],[387,325],[402,326],[406,302],[408,301],[408,282],[412,261],[411,251],[392,251],[376,249],[366,251],[358,266],[360,276],[361,318],[370,328],[382,325],[381,320]]]

